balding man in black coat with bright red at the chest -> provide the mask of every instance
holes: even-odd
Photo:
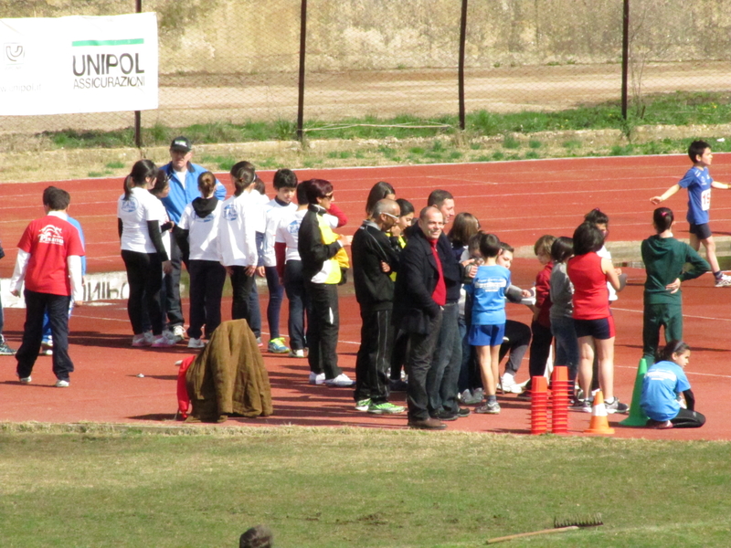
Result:
[[[397,323],[408,332],[408,426],[440,430],[447,426],[429,416],[427,375],[440,334],[447,288],[437,248],[444,217],[425,207],[400,257],[397,276]]]

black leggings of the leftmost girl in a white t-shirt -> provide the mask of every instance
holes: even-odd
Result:
[[[143,315],[146,305],[153,326],[153,334],[163,332],[163,303],[160,288],[163,286],[163,263],[157,253],[139,253],[122,249],[122,260],[127,269],[127,283],[130,296],[127,299],[127,313],[132,323],[132,332],[143,332]]]

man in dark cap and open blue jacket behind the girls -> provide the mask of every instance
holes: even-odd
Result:
[[[184,136],[175,137],[170,143],[170,163],[161,169],[170,181],[170,192],[163,198],[167,215],[174,223],[180,222],[185,205],[200,197],[198,177],[207,171],[202,165],[192,163],[193,145],[190,139]],[[216,181],[215,195],[218,200],[226,197],[226,188]],[[170,272],[164,278],[164,308],[167,313],[167,329],[173,332],[175,339],[182,341],[185,338],[185,318],[183,307],[180,304],[180,249],[175,238],[170,241]]]

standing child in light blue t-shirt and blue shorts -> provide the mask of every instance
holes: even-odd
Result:
[[[484,260],[477,269],[471,284],[464,289],[472,300],[472,323],[468,342],[475,347],[482,373],[487,401],[475,409],[475,413],[500,413],[495,394],[500,345],[505,333],[505,291],[510,287],[510,270],[497,264],[500,240],[494,234],[483,234],[480,239],[480,255]]]

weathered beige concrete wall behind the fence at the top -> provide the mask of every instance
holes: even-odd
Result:
[[[459,0],[310,0],[307,68],[456,66]],[[470,67],[609,63],[621,57],[621,0],[471,0]],[[634,54],[728,59],[726,0],[632,0]],[[9,0],[0,17],[130,13],[133,0]],[[161,72],[297,69],[299,0],[143,0],[160,25]]]

